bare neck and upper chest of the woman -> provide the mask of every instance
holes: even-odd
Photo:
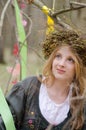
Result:
[[[54,81],[52,86],[47,87],[49,97],[60,104],[65,101],[68,96],[70,85],[65,81]]]

